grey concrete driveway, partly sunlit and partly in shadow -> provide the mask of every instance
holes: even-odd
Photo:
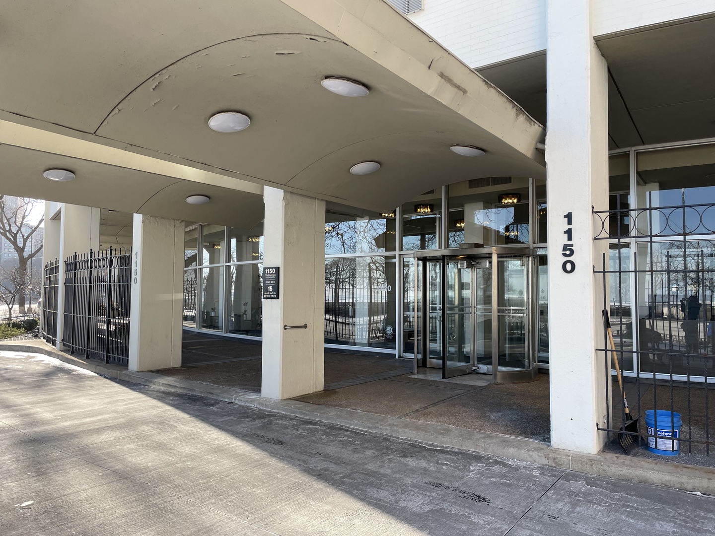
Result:
[[[13,357],[8,357],[13,355]],[[705,535],[715,498],[0,354],[2,535]]]

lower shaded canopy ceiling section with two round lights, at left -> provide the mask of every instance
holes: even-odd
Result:
[[[253,227],[263,219],[260,194],[7,144],[0,145],[0,162],[2,193],[7,195],[231,227]],[[46,169],[54,168],[71,169],[77,178],[52,182],[42,176]],[[199,193],[211,201],[203,205],[184,202],[189,195]]]

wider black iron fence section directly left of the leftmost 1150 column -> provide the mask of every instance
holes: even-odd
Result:
[[[131,290],[131,250],[67,257],[62,343],[71,354],[127,366]]]

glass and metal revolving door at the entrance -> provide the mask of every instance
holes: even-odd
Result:
[[[442,377],[536,379],[536,257],[482,247],[415,252],[415,366]]]

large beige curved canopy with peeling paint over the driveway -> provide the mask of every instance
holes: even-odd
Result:
[[[79,171],[74,190],[40,180],[41,193],[10,192],[4,166],[6,193],[221,223],[230,214],[217,207],[182,216],[184,190],[234,190],[229,212],[255,204],[261,185],[385,210],[452,182],[546,175],[543,127],[383,0],[54,0],[6,6],[3,21],[1,157],[24,177],[48,155]],[[332,94],[326,76],[370,94]],[[226,110],[250,126],[209,129]],[[368,160],[382,167],[349,173]],[[146,192],[115,207],[112,188],[137,174]]]

